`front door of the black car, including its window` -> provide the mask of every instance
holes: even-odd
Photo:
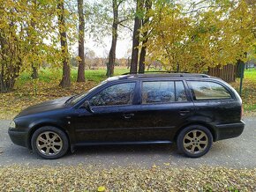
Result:
[[[79,107],[75,121],[77,143],[136,141],[138,88],[136,81],[109,85],[89,98],[91,112]]]

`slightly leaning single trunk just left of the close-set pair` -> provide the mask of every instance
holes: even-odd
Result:
[[[112,0],[113,3],[113,24],[112,24],[112,42],[109,51],[109,63],[107,63],[107,76],[111,77],[114,75],[114,66],[116,62],[116,48],[117,48],[117,22],[118,22],[118,6],[117,0]]]

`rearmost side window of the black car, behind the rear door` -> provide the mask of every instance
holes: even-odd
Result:
[[[228,90],[217,83],[207,81],[188,81],[194,100],[226,100],[231,95]]]

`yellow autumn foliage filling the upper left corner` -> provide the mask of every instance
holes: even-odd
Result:
[[[23,70],[38,69],[42,64],[59,67],[61,52],[56,0],[0,0],[0,72],[4,86],[13,86]],[[75,40],[75,16],[64,9],[65,25],[59,28],[68,33],[69,43]],[[72,36],[72,38],[70,38]],[[69,55],[67,55],[69,57]],[[10,83],[11,82],[11,85]],[[2,90],[3,89],[3,90]],[[7,90],[8,91],[8,90]]]

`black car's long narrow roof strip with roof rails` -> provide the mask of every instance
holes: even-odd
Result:
[[[200,73],[147,73],[147,74],[125,74],[108,78],[108,81],[134,79],[134,78],[211,78],[206,74]]]

